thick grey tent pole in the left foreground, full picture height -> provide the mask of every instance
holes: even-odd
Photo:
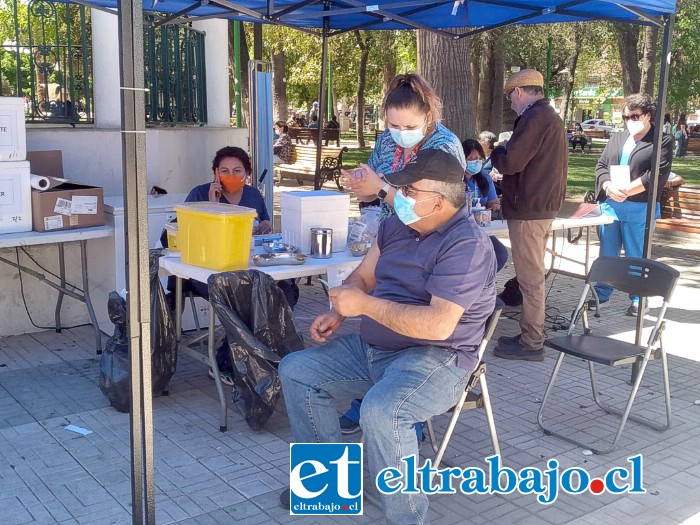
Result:
[[[156,522],[141,0],[119,2],[119,55],[131,374],[131,522],[141,525]]]

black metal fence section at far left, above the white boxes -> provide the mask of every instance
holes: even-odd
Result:
[[[89,12],[46,0],[12,1],[14,35],[0,44],[0,94],[24,97],[27,122],[92,122]]]

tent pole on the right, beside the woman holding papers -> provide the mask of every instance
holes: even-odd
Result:
[[[663,136],[663,117],[666,107],[666,92],[668,91],[668,68],[671,61],[671,38],[675,15],[666,15],[664,20],[664,42],[661,51],[661,72],[659,74],[659,91],[656,98],[656,115],[654,116],[654,151],[651,156],[651,182],[649,184],[649,200],[647,201],[647,218],[644,227],[644,249],[642,257],[651,259],[652,235],[654,234],[654,215],[656,211],[657,181],[659,180],[659,162],[661,161],[661,139]],[[651,94],[651,93],[650,93]],[[635,344],[642,341],[642,329],[644,328],[644,309],[646,297],[639,298],[639,315],[637,316],[637,328],[634,337]],[[632,365],[632,382],[637,377],[639,365]]]

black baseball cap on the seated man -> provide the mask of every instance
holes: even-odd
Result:
[[[422,149],[401,171],[384,175],[392,186],[407,186],[421,179],[462,182],[464,167],[459,159],[441,149]]]

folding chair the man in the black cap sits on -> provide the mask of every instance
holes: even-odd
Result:
[[[501,312],[503,311],[503,306],[503,303],[497,304],[496,309],[493,311],[491,317],[489,317],[488,321],[486,322],[486,332],[484,333],[484,338],[481,340],[481,344],[479,345],[479,351],[477,354],[479,364],[476,366],[476,369],[474,370],[474,372],[472,372],[472,375],[469,377],[469,381],[467,381],[467,386],[465,387],[462,396],[459,398],[459,401],[454,407],[452,407],[449,410],[450,412],[452,412],[452,417],[450,418],[450,422],[447,425],[447,428],[445,429],[445,435],[442,437],[442,441],[440,442],[439,446],[437,445],[437,440],[435,438],[432,420],[429,419],[427,422],[430,446],[433,448],[433,451],[436,454],[435,460],[433,461],[433,466],[436,469],[440,468],[440,462],[442,461],[442,458],[445,455],[445,450],[447,450],[447,445],[449,445],[450,443],[450,438],[452,437],[452,433],[454,432],[455,426],[457,426],[457,420],[459,419],[460,414],[464,410],[472,410],[475,408],[484,409],[484,412],[486,413],[486,422],[489,426],[489,433],[491,434],[491,445],[493,446],[493,452],[494,454],[501,454],[501,449],[498,446],[498,436],[496,435],[496,425],[493,421],[493,411],[491,410],[489,390],[488,386],[486,385],[486,363],[483,362],[483,357],[484,352],[486,351],[486,346],[488,345],[489,340],[493,336],[493,332],[496,330],[496,325],[498,324],[498,319],[500,318]],[[481,387],[480,394],[473,392],[473,388],[474,386],[476,386],[477,381],[479,382],[479,386]]]

